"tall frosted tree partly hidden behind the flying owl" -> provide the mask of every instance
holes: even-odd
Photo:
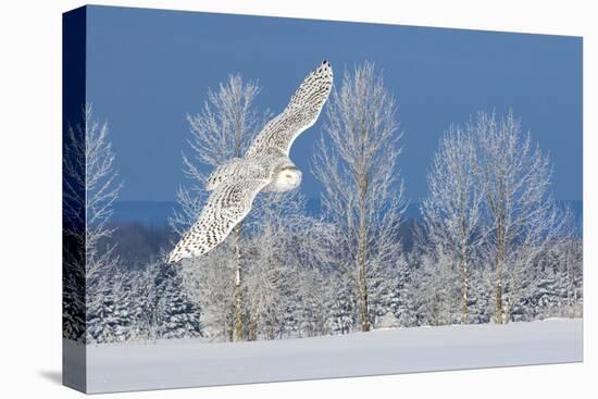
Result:
[[[191,129],[188,140],[190,154],[183,155],[183,164],[188,185],[178,189],[179,209],[170,217],[170,224],[176,233],[184,234],[197,221],[208,198],[204,183],[211,170],[245,153],[259,127],[260,119],[253,107],[259,90],[256,83],[246,83],[239,75],[231,75],[216,91],[208,92],[208,100],[198,114],[187,116]],[[231,257],[226,263],[234,270],[231,278],[234,287],[235,340],[244,338],[241,230],[242,224],[234,228],[228,239],[227,254],[219,252],[221,262],[224,261],[221,257]]]

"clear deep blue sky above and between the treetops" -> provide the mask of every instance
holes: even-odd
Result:
[[[410,201],[450,123],[512,108],[555,165],[559,200],[582,199],[582,39],[413,26],[90,7],[87,99],[109,122],[121,200],[172,201],[184,182],[187,113],[232,73],[259,80],[260,109],[279,112],[304,75],[331,60],[337,82],[365,60],[384,73],[404,132],[400,161]],[[322,120],[296,141],[301,189]]]

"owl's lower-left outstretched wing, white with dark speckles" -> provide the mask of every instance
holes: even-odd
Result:
[[[175,263],[183,258],[199,257],[224,241],[231,230],[247,216],[253,199],[269,183],[267,179],[248,179],[219,185],[197,223],[174,247],[166,262]]]

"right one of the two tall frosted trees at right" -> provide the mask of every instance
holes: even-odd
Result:
[[[512,112],[499,121],[478,113],[471,124],[484,184],[488,255],[495,265],[494,320],[506,323],[521,298],[524,273],[537,265],[557,230],[551,167],[530,134],[522,135]]]

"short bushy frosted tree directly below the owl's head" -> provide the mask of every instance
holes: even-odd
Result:
[[[331,228],[304,211],[306,200],[298,191],[267,194],[250,223],[250,339],[329,332],[332,292],[324,237]]]

